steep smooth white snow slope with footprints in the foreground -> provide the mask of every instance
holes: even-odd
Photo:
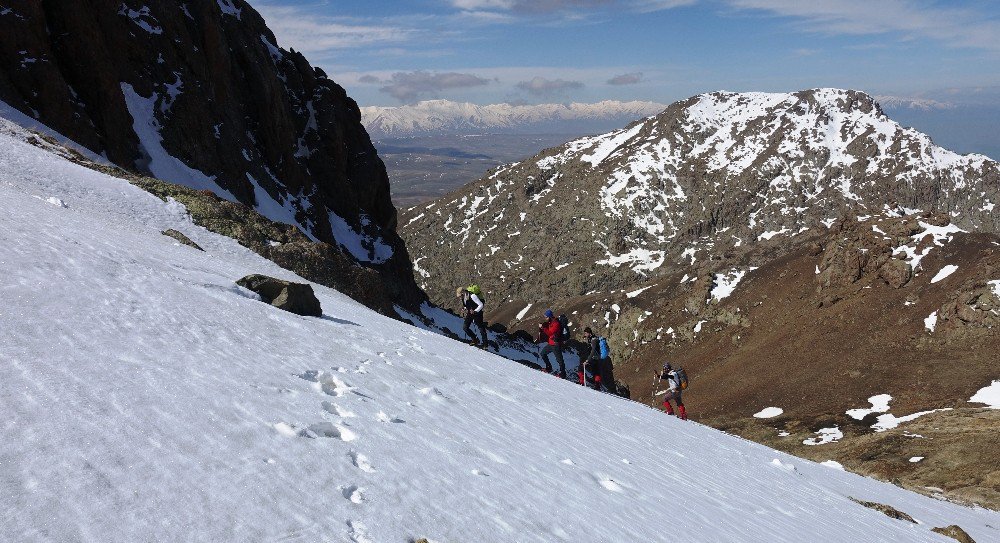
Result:
[[[274,309],[234,280],[292,274],[21,139],[0,130],[0,540],[944,542],[930,528],[948,524],[1000,540],[1000,513],[666,417],[327,288],[323,318]]]

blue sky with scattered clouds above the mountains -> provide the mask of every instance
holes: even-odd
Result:
[[[361,105],[848,87],[996,105],[993,0],[249,0]]]

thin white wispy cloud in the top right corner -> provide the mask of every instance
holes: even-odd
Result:
[[[930,0],[726,0],[737,9],[798,21],[825,34],[900,33],[955,47],[1000,51],[1000,22],[970,8]]]

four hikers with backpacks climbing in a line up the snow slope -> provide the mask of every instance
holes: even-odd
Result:
[[[471,338],[469,344],[487,348],[489,340],[486,335],[486,321],[483,318],[483,309],[486,302],[482,289],[477,285],[459,287],[455,290],[455,296],[459,299],[465,311],[463,330]],[[545,372],[556,375],[561,379],[566,379],[566,361],[563,358],[563,345],[570,339],[569,319],[566,315],[556,317],[551,309],[545,310],[545,320],[538,324],[538,337],[536,343],[541,343],[542,348],[539,356],[545,364]],[[479,338],[473,333],[471,325],[475,324],[479,329]],[[480,339],[481,338],[481,339]],[[612,394],[617,393],[617,386],[614,378],[614,364],[611,362],[611,350],[608,347],[606,338],[594,334],[590,327],[583,329],[583,339],[589,347],[586,358],[580,362],[577,368],[577,380],[581,385],[587,386],[588,382],[595,390],[603,390]],[[553,355],[559,370],[552,368],[549,355]],[[591,378],[588,379],[587,372]],[[654,372],[654,393],[653,397],[659,395],[659,388],[666,383],[667,390],[664,392],[663,408],[668,415],[674,414],[671,402],[677,405],[677,417],[687,420],[687,410],[684,408],[682,391],[687,388],[687,374],[682,368],[674,369],[670,363],[663,365],[662,371]]]

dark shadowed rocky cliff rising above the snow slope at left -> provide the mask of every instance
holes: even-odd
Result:
[[[0,7],[0,99],[111,162],[207,189],[413,287],[357,104],[243,0]]]

